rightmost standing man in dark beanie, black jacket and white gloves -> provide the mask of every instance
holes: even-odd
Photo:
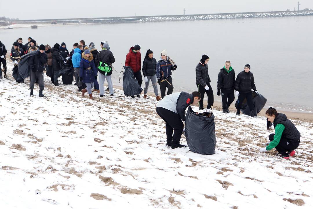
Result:
[[[241,104],[246,98],[249,109],[250,109],[250,116],[254,118],[257,117],[257,115],[254,112],[251,89],[253,89],[253,91],[255,91],[256,94],[259,94],[254,84],[253,73],[250,72],[250,65],[247,64],[244,66],[244,71],[241,71],[237,75],[237,78],[235,81],[235,90],[236,90],[236,95],[238,96],[236,115],[240,115]]]

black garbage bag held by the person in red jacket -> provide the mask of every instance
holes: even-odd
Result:
[[[134,72],[129,66],[124,66],[123,91],[126,97],[140,94],[143,89],[135,79]]]

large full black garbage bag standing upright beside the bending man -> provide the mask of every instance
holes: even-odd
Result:
[[[198,154],[215,154],[215,122],[211,117],[197,115],[189,107],[185,121],[186,141],[190,151]]]

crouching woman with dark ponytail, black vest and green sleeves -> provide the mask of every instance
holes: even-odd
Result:
[[[267,117],[267,130],[270,131],[272,127],[275,128],[275,133],[269,134],[269,142],[262,147],[259,151],[266,152],[275,148],[280,157],[289,159],[294,156],[295,149],[300,144],[300,132],[295,125],[287,119],[287,116],[283,113],[278,113],[275,108],[269,107],[266,110],[265,115]]]

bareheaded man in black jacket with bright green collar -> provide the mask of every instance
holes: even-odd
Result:
[[[226,61],[217,78],[217,95],[222,94],[223,113],[229,113],[229,106],[235,99],[234,85],[235,71],[230,66],[230,61]]]

